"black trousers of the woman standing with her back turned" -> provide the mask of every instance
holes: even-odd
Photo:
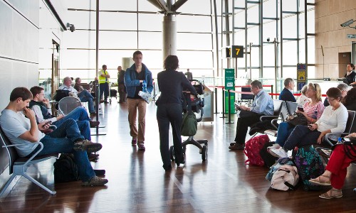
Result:
[[[163,167],[171,165],[169,158],[169,123],[172,126],[173,146],[176,163],[182,163],[183,148],[180,126],[182,125],[182,104],[159,104],[157,106],[157,122],[159,130],[159,149]]]

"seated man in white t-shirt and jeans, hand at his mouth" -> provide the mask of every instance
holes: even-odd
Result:
[[[16,87],[10,94],[10,102],[1,112],[0,126],[5,135],[15,146],[21,157],[29,157],[39,150],[38,144],[43,143],[43,149],[38,156],[50,153],[73,153],[75,163],[78,165],[82,185],[105,185],[108,180],[98,178],[88,160],[88,152],[99,151],[100,143],[88,141],[80,134],[77,123],[68,119],[51,133],[45,135],[40,130],[48,129],[45,122],[37,124],[36,115],[28,109],[32,94],[25,87]],[[26,117],[27,118],[26,118]]]

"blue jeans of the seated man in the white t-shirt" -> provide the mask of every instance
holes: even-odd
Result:
[[[80,179],[83,182],[88,181],[95,176],[95,173],[88,160],[87,152],[73,150],[74,142],[83,138],[77,123],[73,119],[68,119],[55,131],[48,133],[40,140],[43,143],[43,150],[38,155],[73,153]]]

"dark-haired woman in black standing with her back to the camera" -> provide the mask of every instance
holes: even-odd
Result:
[[[157,75],[158,88],[161,95],[157,99],[157,122],[159,129],[159,148],[164,170],[171,170],[169,158],[169,123],[172,126],[175,162],[177,166],[185,163],[182,148],[180,127],[182,125],[182,92],[188,89],[197,95],[192,84],[183,72],[177,72],[179,61],[176,55],[168,55],[164,60],[164,71]]]

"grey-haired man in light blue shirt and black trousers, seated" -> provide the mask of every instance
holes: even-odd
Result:
[[[251,82],[251,92],[255,99],[251,107],[240,106],[239,119],[237,119],[235,143],[229,146],[231,150],[243,150],[248,126],[256,124],[263,115],[273,115],[274,107],[271,96],[263,90],[258,80]]]

